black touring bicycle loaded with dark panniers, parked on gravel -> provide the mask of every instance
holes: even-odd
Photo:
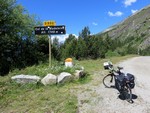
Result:
[[[123,67],[117,67],[117,70],[115,70],[111,62],[104,62],[104,69],[109,70],[109,74],[103,78],[104,86],[106,88],[116,88],[125,100],[133,103],[132,89],[135,86],[135,77],[130,73],[121,72]]]

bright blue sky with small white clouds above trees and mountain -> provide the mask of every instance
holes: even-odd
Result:
[[[99,33],[150,5],[150,0],[17,0],[41,21],[55,20],[68,34],[79,35],[85,27]]]

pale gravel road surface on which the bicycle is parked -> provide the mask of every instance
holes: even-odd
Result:
[[[100,74],[78,94],[79,113],[150,113],[150,57],[135,57],[118,64],[135,75],[133,104],[119,98],[116,89],[105,88]]]

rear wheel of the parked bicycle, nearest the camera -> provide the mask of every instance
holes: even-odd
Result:
[[[125,99],[126,99],[129,103],[133,103],[133,100],[132,100],[132,90],[131,90],[129,84],[127,84],[127,88],[125,88],[124,96],[125,96]]]

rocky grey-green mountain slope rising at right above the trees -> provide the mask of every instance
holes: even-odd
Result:
[[[147,6],[124,21],[99,33],[120,41],[130,40],[134,47],[145,49],[150,46],[150,6]],[[129,42],[129,41],[128,41]]]

